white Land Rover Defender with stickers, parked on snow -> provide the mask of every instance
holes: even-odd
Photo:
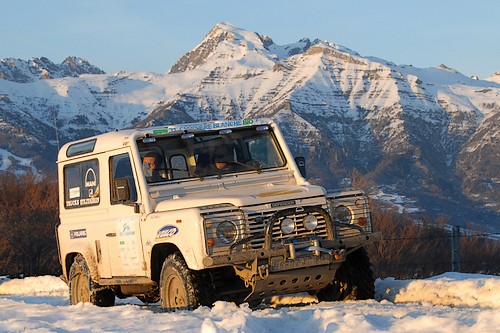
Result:
[[[372,298],[359,190],[305,180],[269,119],[129,129],[59,152],[62,278],[71,304],[194,308],[307,291]]]

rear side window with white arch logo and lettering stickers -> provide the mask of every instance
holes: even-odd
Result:
[[[99,163],[97,159],[64,167],[64,207],[78,208],[98,205]]]

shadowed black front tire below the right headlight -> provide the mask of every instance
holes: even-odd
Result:
[[[375,297],[375,279],[370,258],[365,248],[349,254],[335,272],[335,279],[317,293],[319,301],[372,299]]]

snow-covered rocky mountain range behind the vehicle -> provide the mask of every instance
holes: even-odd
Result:
[[[271,117],[327,187],[356,169],[374,193],[500,230],[496,74],[396,65],[307,38],[277,45],[226,23],[164,75],[68,59],[1,60],[1,169],[53,169],[57,144],[116,128]]]

